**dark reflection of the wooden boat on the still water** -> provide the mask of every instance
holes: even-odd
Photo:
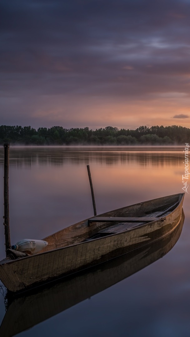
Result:
[[[163,238],[133,252],[113,258],[57,283],[20,297],[8,298],[7,311],[0,327],[3,337],[14,336],[66,310],[129,277],[163,257],[178,241],[184,223],[184,212],[179,224]]]

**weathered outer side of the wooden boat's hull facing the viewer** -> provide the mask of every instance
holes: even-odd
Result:
[[[177,195],[175,195],[175,198],[177,198]],[[184,194],[180,193],[179,198],[179,205],[169,215],[134,229],[2,263],[0,264],[0,278],[8,290],[18,292],[150,244],[169,234],[179,224]],[[161,202],[163,198],[159,199]],[[154,205],[155,200],[151,202]],[[134,205],[134,208],[137,205]],[[88,231],[90,232],[91,229],[87,220],[82,223],[85,224],[85,228],[89,228]],[[99,224],[96,224],[96,227],[99,227]]]

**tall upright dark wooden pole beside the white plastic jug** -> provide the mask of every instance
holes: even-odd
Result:
[[[11,247],[10,228],[9,228],[9,190],[8,190],[8,171],[9,171],[9,144],[4,146],[4,227],[5,227],[5,251]],[[7,253],[6,253],[7,255]]]

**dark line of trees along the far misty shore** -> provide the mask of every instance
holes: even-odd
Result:
[[[24,145],[172,145],[190,139],[190,129],[178,125],[139,126],[135,130],[107,126],[96,130],[64,129],[62,126],[40,127],[0,126],[0,143]]]

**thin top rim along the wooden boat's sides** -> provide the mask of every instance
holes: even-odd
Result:
[[[154,220],[154,221],[151,221],[151,222],[145,222],[145,223],[143,223],[142,225],[136,226],[136,227],[134,227],[134,228],[126,229],[125,231],[122,231],[122,232],[119,232],[119,233],[109,234],[109,235],[106,235],[106,236],[104,236],[104,237],[91,239],[91,240],[89,240],[89,241],[82,241],[82,242],[74,243],[74,244],[72,244],[72,245],[68,245],[68,246],[64,246],[64,247],[59,247],[59,248],[47,250],[47,251],[42,252],[42,253],[39,252],[39,253],[34,254],[34,255],[25,256],[25,257],[20,257],[20,258],[17,258],[17,259],[15,259],[15,260],[10,260],[10,261],[7,260],[7,262],[3,262],[3,263],[1,264],[1,262],[3,261],[3,260],[2,260],[2,261],[0,261],[0,267],[3,266],[4,264],[9,264],[9,265],[10,265],[10,264],[12,264],[12,263],[16,263],[16,262],[19,262],[19,261],[22,261],[22,260],[25,260],[25,259],[28,259],[28,258],[35,257],[35,256],[41,256],[41,255],[44,255],[44,254],[48,254],[48,253],[51,253],[51,252],[54,252],[54,251],[58,251],[58,250],[62,250],[62,249],[66,249],[66,248],[70,248],[70,247],[74,247],[74,246],[78,246],[78,245],[81,245],[81,244],[88,244],[89,242],[92,242],[92,241],[95,241],[95,240],[103,240],[103,239],[106,239],[107,237],[110,238],[110,237],[113,237],[113,236],[121,235],[121,234],[126,233],[126,232],[129,233],[129,232],[131,232],[131,231],[135,231],[135,229],[141,228],[141,227],[146,226],[146,225],[152,226],[152,225],[154,225],[155,223],[157,223],[157,222],[159,222],[159,221],[162,222],[164,219],[166,219],[167,217],[169,217],[173,212],[175,212],[179,207],[181,207],[181,204],[183,205],[183,200],[184,200],[184,195],[185,195],[185,193],[171,194],[171,195],[166,195],[165,197],[173,197],[173,196],[177,196],[177,195],[179,195],[179,198],[180,198],[180,195],[181,195],[181,200],[179,201],[179,204],[174,208],[173,211],[171,211],[171,212],[170,212],[169,214],[167,214],[166,216],[159,217],[158,220]],[[150,202],[150,201],[158,200],[158,199],[162,199],[162,198],[164,198],[164,197],[160,197],[160,198],[156,198],[156,199],[147,200],[147,201],[145,201],[145,202]],[[143,203],[145,203],[145,202],[141,202],[141,203],[134,204],[134,205],[129,205],[129,206],[126,206],[126,207],[140,205],[140,204],[143,204]],[[113,210],[113,211],[125,209],[126,207],[118,208],[118,209]],[[110,212],[110,211],[108,211],[108,212],[106,212],[106,213],[109,213],[109,212]],[[102,213],[102,214],[106,214],[106,213]],[[182,213],[182,210],[181,210],[181,213]],[[100,214],[100,215],[102,215],[102,214]],[[97,215],[97,216],[99,216],[99,215]],[[90,218],[91,218],[91,217],[90,217]],[[83,221],[88,221],[88,219],[90,219],[90,218],[87,218],[87,219],[85,219],[85,220],[82,220],[82,222],[83,222]],[[94,218],[95,218],[95,217],[94,217]],[[180,219],[181,219],[181,217],[180,217]],[[81,221],[79,221],[79,222],[77,222],[77,223],[80,223],[80,222],[81,222]],[[98,222],[98,221],[97,221],[97,222]],[[77,223],[75,223],[75,224],[77,224]],[[74,225],[75,225],[75,224],[74,224]],[[71,225],[71,226],[72,226],[72,225]],[[70,226],[68,226],[68,227],[70,227]],[[65,227],[65,228],[68,228],[68,227]],[[63,229],[64,229],[64,228],[63,228]],[[56,233],[59,233],[59,232],[60,232],[60,231],[55,232],[55,233],[53,233],[53,234],[56,234]],[[52,235],[53,235],[53,234],[52,234]]]

